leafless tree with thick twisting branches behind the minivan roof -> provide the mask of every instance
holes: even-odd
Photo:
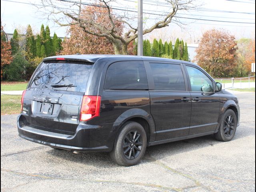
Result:
[[[168,26],[179,10],[194,8],[194,1],[165,0],[164,5],[168,8],[168,12],[154,14],[159,16],[158,21],[144,28],[143,34]],[[67,8],[65,4],[61,4],[63,2],[72,5]],[[44,14],[48,15],[48,18],[53,18],[58,25],[79,25],[88,34],[107,38],[113,44],[115,54],[128,54],[128,44],[138,37],[138,28],[134,27],[136,17],[128,16],[128,9],[124,11],[121,8],[113,8],[112,3],[112,0],[99,0],[99,4],[82,3],[81,0],[80,2],[59,0],[56,4],[56,1],[42,0],[43,6],[39,8],[43,8]],[[49,7],[52,9],[50,10]],[[182,24],[178,18],[175,18],[175,22]]]

